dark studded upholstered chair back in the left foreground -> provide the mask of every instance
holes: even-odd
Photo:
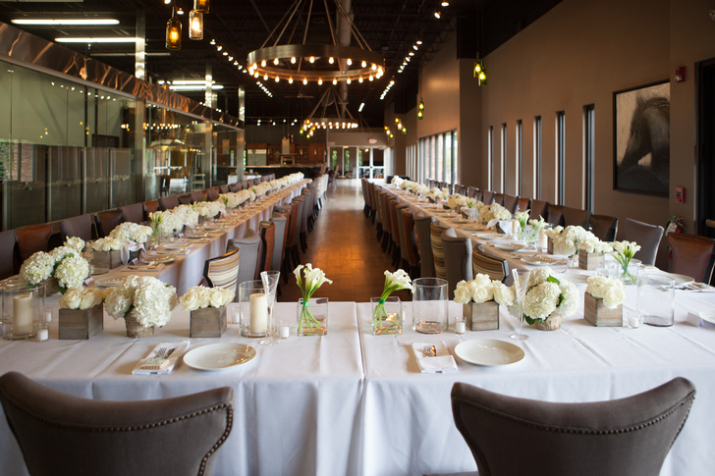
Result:
[[[233,389],[142,401],[91,400],[18,372],[0,402],[32,476],[209,476],[233,426]]]

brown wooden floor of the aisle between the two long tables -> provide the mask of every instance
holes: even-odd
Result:
[[[359,180],[338,180],[328,191],[326,205],[308,234],[308,250],[300,257],[301,263],[311,263],[333,280],[314,297],[367,302],[382,294],[385,270],[394,268],[377,241],[375,225],[362,212],[364,205]],[[287,284],[281,280],[281,290],[279,302],[295,302],[302,297],[293,273]],[[396,295],[410,299],[405,291]]]

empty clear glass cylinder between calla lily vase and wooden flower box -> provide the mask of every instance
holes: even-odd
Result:
[[[441,334],[449,328],[448,283],[439,278],[418,278],[412,283],[412,329]]]

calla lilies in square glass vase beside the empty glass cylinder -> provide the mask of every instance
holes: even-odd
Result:
[[[402,303],[392,293],[409,289],[413,292],[412,279],[403,269],[394,273],[385,271],[385,285],[379,298],[372,302],[372,333],[374,335],[402,334]]]

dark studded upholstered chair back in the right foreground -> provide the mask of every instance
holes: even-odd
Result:
[[[452,413],[479,475],[653,476],[694,399],[695,387],[684,378],[631,397],[588,403],[528,400],[458,382],[452,387]]]

